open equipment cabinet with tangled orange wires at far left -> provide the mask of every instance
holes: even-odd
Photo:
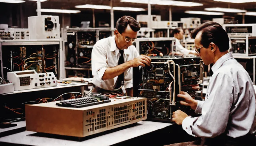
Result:
[[[7,79],[9,71],[35,70],[62,79],[59,52],[59,40],[0,40],[1,77]]]

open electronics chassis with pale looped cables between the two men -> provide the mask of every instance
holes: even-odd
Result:
[[[147,98],[147,119],[172,122],[172,113],[194,111],[179,104],[177,95],[187,92],[202,100],[203,67],[200,57],[151,57],[150,66],[133,68],[133,94]],[[171,87],[171,89],[170,89]],[[197,92],[201,89],[201,92]]]

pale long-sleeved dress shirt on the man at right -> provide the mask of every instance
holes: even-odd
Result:
[[[195,137],[213,138],[222,133],[237,138],[255,132],[255,91],[247,71],[231,53],[211,68],[205,102],[198,101],[200,117],[186,117],[183,129]]]

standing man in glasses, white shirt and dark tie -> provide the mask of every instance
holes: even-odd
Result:
[[[114,36],[99,40],[91,53],[94,89],[92,92],[121,91],[133,96],[132,67],[150,65],[151,59],[139,55],[133,44],[141,26],[130,16],[117,20]]]

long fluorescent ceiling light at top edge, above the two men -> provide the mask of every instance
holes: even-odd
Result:
[[[121,0],[120,2],[148,3],[149,0]],[[174,1],[174,0],[151,0],[150,4],[151,5],[167,5],[167,6],[183,6],[183,7],[203,6],[202,3],[198,3],[198,2],[185,2],[185,1]]]

